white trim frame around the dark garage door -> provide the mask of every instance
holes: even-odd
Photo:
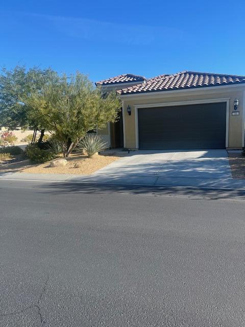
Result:
[[[152,104],[136,104],[134,106],[134,117],[135,117],[135,147],[139,148],[139,124],[138,124],[138,109],[143,108],[157,108],[157,107],[172,107],[181,106],[189,104],[203,104],[203,103],[219,103],[226,102],[226,147],[229,146],[229,109],[230,109],[230,99],[209,99],[209,100],[193,100],[193,101],[179,101],[179,102],[164,102],[164,103],[152,103]]]

